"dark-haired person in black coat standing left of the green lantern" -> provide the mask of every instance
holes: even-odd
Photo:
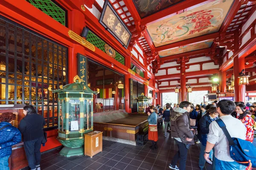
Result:
[[[19,130],[23,134],[23,143],[29,167],[31,170],[41,170],[41,144],[46,124],[44,117],[37,114],[32,105],[23,108],[25,117],[20,121]]]

